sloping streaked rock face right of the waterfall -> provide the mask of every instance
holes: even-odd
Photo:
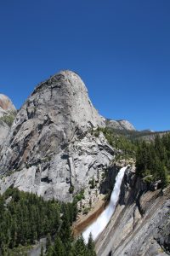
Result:
[[[169,254],[169,190],[150,191],[133,172],[127,172],[116,212],[97,241],[97,255]]]

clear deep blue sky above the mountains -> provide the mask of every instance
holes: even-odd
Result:
[[[0,0],[0,93],[17,108],[61,69],[99,113],[170,130],[170,0]]]

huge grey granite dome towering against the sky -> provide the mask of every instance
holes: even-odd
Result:
[[[1,192],[9,186],[46,199],[71,201],[113,159],[105,126],[76,73],[63,71],[39,84],[17,114],[0,156]]]

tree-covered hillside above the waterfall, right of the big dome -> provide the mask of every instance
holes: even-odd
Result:
[[[94,131],[98,136],[102,131],[111,144],[116,148],[116,160],[133,158],[136,161],[136,173],[144,177],[144,182],[160,181],[161,187],[170,183],[170,133],[156,133],[155,139],[145,141],[144,131],[139,139],[138,132],[118,132],[111,128],[99,128]],[[121,150],[121,152],[120,152]]]

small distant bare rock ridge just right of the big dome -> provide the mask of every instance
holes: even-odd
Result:
[[[115,130],[136,131],[134,126],[131,123],[129,123],[127,120],[106,119],[105,124],[107,127],[111,127]]]

